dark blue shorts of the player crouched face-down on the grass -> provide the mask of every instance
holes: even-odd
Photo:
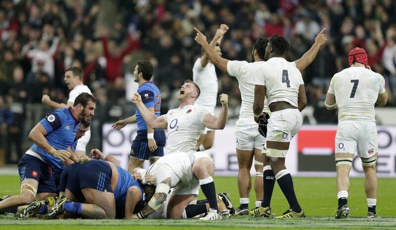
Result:
[[[101,192],[113,192],[111,189],[112,171],[110,165],[103,160],[90,160],[78,169],[78,184],[84,188],[96,189]]]

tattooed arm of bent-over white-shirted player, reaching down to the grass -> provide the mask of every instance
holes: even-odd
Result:
[[[157,210],[162,203],[166,200],[168,196],[168,192],[170,190],[172,179],[171,177],[166,178],[162,182],[160,182],[156,188],[155,193],[152,198],[148,201],[148,204],[137,214],[132,215],[132,218],[144,219],[155,210]]]

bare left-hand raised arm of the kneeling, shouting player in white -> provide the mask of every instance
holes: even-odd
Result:
[[[168,122],[165,120],[164,115],[160,115],[157,117],[152,112],[150,112],[145,104],[142,102],[142,97],[138,92],[135,92],[134,97],[132,98],[132,103],[134,103],[142,115],[143,119],[145,119],[146,123],[153,129],[166,129],[168,127]]]

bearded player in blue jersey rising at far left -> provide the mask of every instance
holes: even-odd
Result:
[[[57,183],[67,159],[78,158],[67,149],[74,142],[81,120],[94,115],[96,99],[82,93],[72,107],[49,112],[29,133],[34,144],[21,157],[18,171],[21,193],[0,201],[0,212],[15,213],[18,206],[56,196]]]

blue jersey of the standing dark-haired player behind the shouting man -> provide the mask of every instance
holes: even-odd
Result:
[[[142,102],[147,108],[154,107],[154,114],[158,117],[161,113],[161,92],[158,87],[153,82],[147,81],[139,86],[138,93],[141,95]],[[147,130],[146,121],[143,119],[137,106],[135,106],[135,110],[139,130]]]

